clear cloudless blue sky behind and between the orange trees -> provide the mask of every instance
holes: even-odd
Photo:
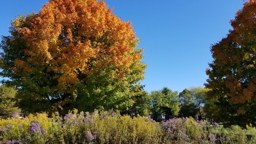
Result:
[[[9,35],[15,16],[39,12],[48,0],[1,0],[0,35]],[[211,44],[231,29],[229,20],[243,0],[105,0],[123,21],[132,21],[148,64],[142,84],[150,92],[164,86],[181,92],[203,86]]]

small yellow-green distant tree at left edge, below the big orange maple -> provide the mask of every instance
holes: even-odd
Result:
[[[12,87],[0,86],[0,117],[10,117],[12,114],[21,112],[16,107],[16,93],[17,91]]]

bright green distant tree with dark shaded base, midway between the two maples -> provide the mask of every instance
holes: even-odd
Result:
[[[173,92],[164,87],[159,91],[151,91],[149,96],[151,97],[150,110],[154,120],[160,121],[158,117],[161,115],[165,116],[165,119],[178,116],[180,103],[177,91]]]

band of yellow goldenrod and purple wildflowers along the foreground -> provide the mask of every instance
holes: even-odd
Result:
[[[255,144],[256,129],[229,128],[205,121],[173,118],[156,123],[119,112],[69,112],[0,120],[0,144]]]

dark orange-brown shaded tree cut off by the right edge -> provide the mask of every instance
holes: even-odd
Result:
[[[256,1],[246,1],[230,24],[227,37],[211,47],[208,98],[215,101],[216,119],[256,125]]]

